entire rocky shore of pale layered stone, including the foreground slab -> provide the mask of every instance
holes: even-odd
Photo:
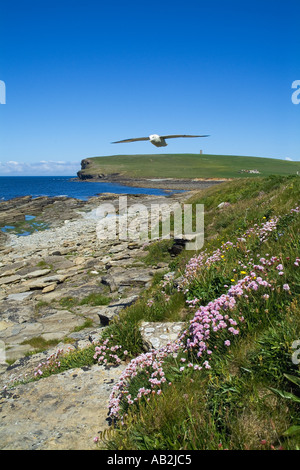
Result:
[[[187,194],[127,197],[128,205],[149,207],[182,202]],[[168,270],[166,263],[143,263],[145,241],[99,240],[95,211],[103,202],[117,207],[118,201],[119,195],[103,194],[88,201],[25,197],[0,203],[0,226],[17,226],[28,214],[46,224],[28,236],[0,232],[0,449],[92,449],[93,437],[108,425],[109,395],[124,364],[17,383],[58,348],[82,349],[97,341],[153,275]],[[82,302],[94,294],[107,297],[108,304]],[[176,324],[142,329],[148,347],[178,333]],[[37,337],[58,344],[35,353]]]

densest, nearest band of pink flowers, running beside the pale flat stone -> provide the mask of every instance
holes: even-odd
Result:
[[[255,278],[255,279],[254,279]],[[252,273],[237,282],[228,290],[228,294],[220,296],[213,302],[206,306],[200,306],[195,313],[193,320],[190,322],[190,327],[185,330],[177,341],[169,343],[166,347],[159,350],[152,350],[148,353],[141,354],[134,358],[126,367],[121,375],[118,383],[114,386],[110,396],[110,416],[120,417],[120,404],[122,400],[126,400],[129,405],[138,401],[147,395],[161,393],[161,386],[166,382],[164,372],[164,362],[172,354],[176,357],[178,352],[186,353],[190,350],[197,351],[197,357],[203,356],[204,352],[208,355],[200,364],[193,364],[189,362],[187,365],[182,365],[179,372],[183,372],[185,368],[193,368],[194,370],[201,370],[203,368],[210,369],[210,356],[212,351],[208,348],[208,342],[212,332],[224,330],[236,336],[239,334],[238,322],[244,321],[243,316],[239,315],[237,319],[230,316],[230,311],[236,307],[236,299],[242,295],[247,296],[246,292],[255,291],[259,287],[272,288],[271,284],[263,280],[261,277],[255,276]],[[228,313],[227,313],[228,312]],[[231,342],[229,339],[224,340],[225,346],[229,347]],[[185,358],[181,361],[184,363]],[[141,387],[137,395],[133,397],[129,394],[129,386],[134,377],[141,371],[145,371],[147,375],[147,386]],[[149,400],[149,397],[147,398]]]

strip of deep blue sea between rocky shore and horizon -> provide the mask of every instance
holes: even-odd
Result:
[[[19,196],[68,196],[87,200],[100,193],[167,194],[161,189],[131,188],[113,183],[70,181],[74,176],[0,176],[0,201]],[[169,192],[168,192],[169,194]]]

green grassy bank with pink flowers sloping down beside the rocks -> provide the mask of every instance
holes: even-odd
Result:
[[[172,240],[146,246],[144,262],[167,262],[165,275],[154,276],[97,345],[58,353],[37,371],[42,378],[126,363],[110,398],[111,426],[96,446],[300,449],[299,201],[297,175],[237,178],[194,192],[187,202],[204,204],[203,248],[172,257]],[[142,321],[182,322],[182,332],[146,352]]]

